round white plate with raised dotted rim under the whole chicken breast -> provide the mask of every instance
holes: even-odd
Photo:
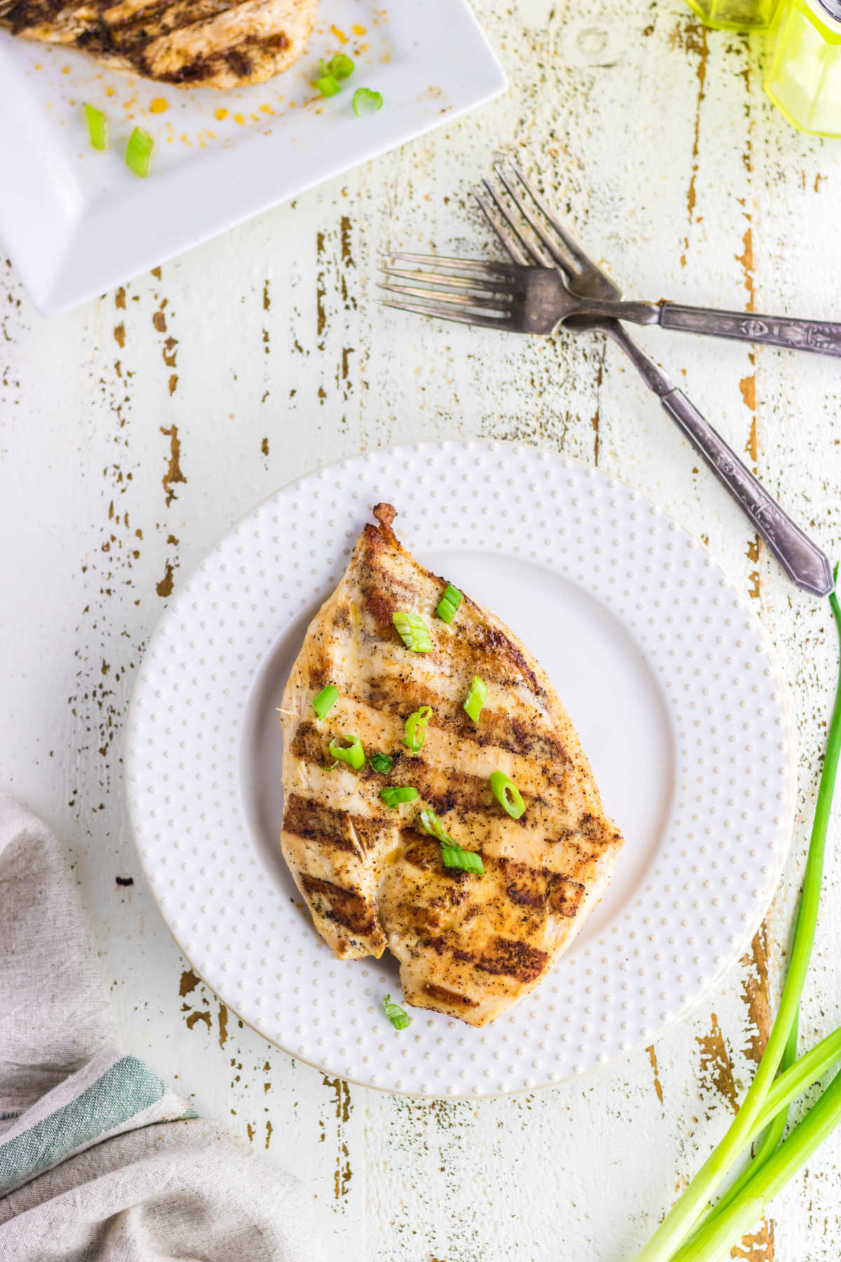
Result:
[[[380,500],[546,668],[627,838],[570,950],[480,1030],[420,1010],[392,1030],[396,963],[333,959],[280,854],[276,707]],[[540,1087],[656,1039],[759,925],[794,801],[782,688],[707,550],[593,468],[488,443],[368,452],[248,514],[158,625],[126,764],[144,868],[197,973],[327,1074],[427,1095]]]

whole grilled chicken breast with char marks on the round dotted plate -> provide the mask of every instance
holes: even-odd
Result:
[[[445,582],[400,545],[395,510],[362,531],[347,572],[310,623],[284,693],[281,846],[319,934],[342,959],[400,960],[406,1001],[493,1021],[548,972],[604,893],[623,843],[601,810],[593,772],[547,676],[516,636],[464,597],[451,623],[435,617]],[[395,611],[420,613],[431,652],[411,652]],[[478,675],[488,697],[473,723],[463,709]],[[313,698],[339,697],[318,719]],[[431,707],[411,755],[405,719]],[[333,766],[328,745],[358,736],[393,757],[387,775]],[[489,776],[503,771],[526,810],[512,819]],[[383,804],[386,785],[416,801]],[[420,824],[431,806],[484,873],[444,867]]]

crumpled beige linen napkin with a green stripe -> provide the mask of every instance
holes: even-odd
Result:
[[[124,1054],[62,849],[0,794],[0,1258],[314,1257],[300,1185]]]

